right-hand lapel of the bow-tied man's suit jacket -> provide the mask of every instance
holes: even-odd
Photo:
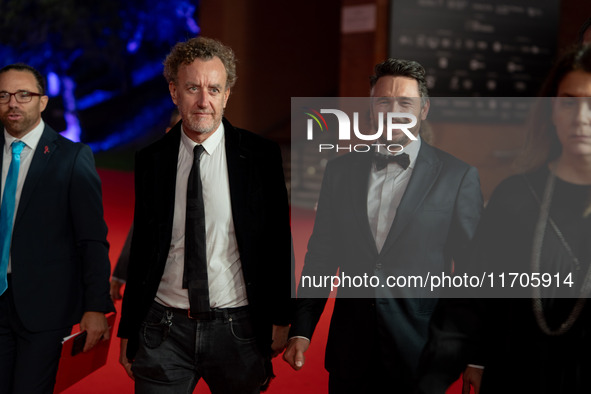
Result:
[[[440,171],[441,162],[435,155],[435,152],[433,152],[433,148],[425,143],[425,141],[422,141],[415,168],[396,211],[396,217],[394,218],[381,254],[386,255],[388,253],[388,249],[395,244],[398,236],[402,233],[408,222],[415,216],[417,209],[423,203],[423,200],[429,194],[431,187],[437,180]]]

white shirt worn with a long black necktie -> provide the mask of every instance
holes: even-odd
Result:
[[[193,148],[197,145],[181,131],[177,162],[172,238],[164,274],[158,287],[156,301],[173,308],[189,309],[189,295],[183,289],[185,266],[185,212],[187,182],[193,165]],[[238,252],[230,182],[226,162],[224,126],[220,126],[205,141],[199,170],[203,185],[205,208],[205,242],[207,245],[207,275],[209,302],[212,308],[233,308],[248,304],[242,263]]]

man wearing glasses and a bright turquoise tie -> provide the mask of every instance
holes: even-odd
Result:
[[[45,81],[0,69],[0,392],[52,393],[62,338],[108,338],[109,245],[90,148],[41,119]]]

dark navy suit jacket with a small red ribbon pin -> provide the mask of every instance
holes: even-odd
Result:
[[[90,148],[46,125],[23,185],[10,248],[14,303],[28,330],[65,328],[83,312],[115,310],[106,237]]]

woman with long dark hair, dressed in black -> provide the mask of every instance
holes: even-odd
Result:
[[[591,391],[591,46],[564,53],[541,95],[523,172],[495,189],[472,245],[482,272],[505,274],[495,296],[519,298],[442,302],[421,392],[443,392],[470,363],[465,393],[470,385],[477,394]],[[508,289],[510,273],[532,285]],[[551,283],[536,286],[543,273]]]

